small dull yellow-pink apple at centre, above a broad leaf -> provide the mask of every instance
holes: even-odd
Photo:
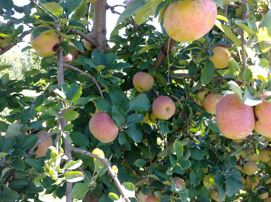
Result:
[[[147,72],[137,72],[133,77],[133,85],[140,93],[149,91],[153,84],[153,76]]]

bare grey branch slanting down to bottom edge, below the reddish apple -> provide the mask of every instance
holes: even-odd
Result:
[[[65,147],[66,149],[66,147]],[[118,177],[117,175],[115,174],[115,172],[113,171],[113,169],[111,168],[110,164],[108,163],[108,160],[101,157],[101,156],[98,156],[96,154],[92,154],[90,152],[87,152],[85,150],[82,150],[82,149],[78,149],[78,148],[75,148],[73,147],[71,144],[69,144],[69,149],[73,152],[77,152],[77,153],[80,153],[80,154],[84,154],[86,156],[89,156],[89,157],[92,157],[92,158],[95,158],[95,159],[98,159],[100,161],[102,161],[102,163],[104,163],[105,167],[107,168],[108,170],[108,173],[112,176],[113,180],[115,181],[117,187],[118,187],[118,190],[120,191],[120,194],[122,195],[122,197],[125,199],[126,202],[131,202],[130,199],[125,196],[125,192],[124,190],[122,189],[121,187],[121,184],[120,184],[120,181],[118,180]]]

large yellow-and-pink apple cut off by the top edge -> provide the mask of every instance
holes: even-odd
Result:
[[[176,1],[164,12],[164,28],[175,41],[194,41],[212,29],[216,18],[217,6],[210,0]]]

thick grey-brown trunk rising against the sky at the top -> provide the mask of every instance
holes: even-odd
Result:
[[[93,37],[97,42],[95,50],[106,53],[106,10],[107,0],[99,0],[93,6]]]

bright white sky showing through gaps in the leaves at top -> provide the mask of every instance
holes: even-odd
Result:
[[[1,0],[0,0],[1,1]],[[13,0],[14,1],[14,5],[17,5],[17,6],[23,6],[23,5],[27,5],[29,4],[29,0]],[[85,0],[83,0],[85,1]],[[110,6],[114,6],[114,5],[124,5],[123,2],[125,0],[107,0],[107,3],[108,5]],[[121,7],[121,6],[118,6],[115,8],[116,11],[122,13],[124,11],[124,7]],[[24,14],[19,14],[16,12],[15,14],[15,17],[16,18],[20,18],[22,17]],[[107,27],[107,39],[109,39],[110,37],[110,33],[112,32],[112,30],[114,29],[115,25],[116,25],[116,22],[119,18],[119,15],[117,14],[112,14],[110,10],[107,10],[107,21],[106,21],[106,27]],[[3,22],[3,19],[0,18],[0,20]],[[4,21],[5,22],[5,21]],[[153,24],[156,29],[158,31],[161,32],[161,27],[158,23],[158,18],[154,19],[153,22],[151,22],[151,24]],[[25,25],[25,28],[24,30],[28,30],[29,28]],[[121,33],[120,32],[120,35],[122,35],[123,32]],[[30,35],[27,35],[25,38],[24,38],[24,41],[26,42],[29,42],[30,41]],[[25,46],[27,46],[27,43],[26,42],[22,42],[22,43],[19,43],[18,46],[16,47],[16,49],[22,49],[24,48]],[[113,43],[110,43],[109,42],[109,45],[112,47],[114,44]]]

